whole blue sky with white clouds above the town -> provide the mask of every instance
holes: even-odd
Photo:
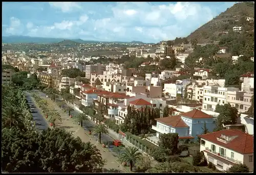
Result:
[[[4,2],[2,35],[98,41],[186,37],[234,2]]]

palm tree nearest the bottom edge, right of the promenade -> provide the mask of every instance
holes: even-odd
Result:
[[[130,163],[130,171],[133,170],[133,162],[136,161],[136,159],[139,159],[141,156],[141,153],[139,152],[139,149],[137,147],[128,146],[123,149],[123,153],[121,154],[120,160],[123,162],[129,162]]]

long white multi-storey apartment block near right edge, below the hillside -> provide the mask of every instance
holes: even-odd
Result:
[[[216,105],[229,103],[243,113],[251,106],[250,98],[253,93],[239,91],[238,88],[222,88],[219,86],[204,86],[203,109],[215,110]]]

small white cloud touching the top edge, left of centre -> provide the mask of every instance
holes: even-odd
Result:
[[[56,9],[61,9],[62,12],[71,12],[74,9],[80,9],[81,6],[76,2],[51,2],[49,3],[51,7]]]

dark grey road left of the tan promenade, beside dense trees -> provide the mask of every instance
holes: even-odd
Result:
[[[34,112],[32,113],[32,115],[33,115],[33,120],[36,122],[37,131],[42,132],[43,130],[48,129],[49,127],[48,123],[45,117],[40,113],[40,110],[36,107],[34,101],[32,100],[31,94],[28,93],[27,91],[24,91],[24,93],[26,95],[28,104],[34,106]]]

